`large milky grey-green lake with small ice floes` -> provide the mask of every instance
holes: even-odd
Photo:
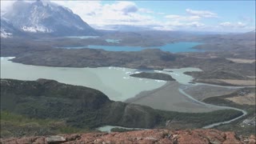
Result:
[[[133,78],[136,70],[119,67],[68,68],[50,66],[31,66],[1,58],[1,78],[19,80],[53,79],[71,85],[87,86],[101,90],[111,100],[124,101],[143,90],[153,90],[166,82],[153,79]]]

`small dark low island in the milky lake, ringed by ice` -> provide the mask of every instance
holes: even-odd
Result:
[[[136,77],[136,78],[150,78],[150,79],[157,79],[157,80],[163,80],[163,81],[175,81],[175,79],[172,78],[169,74],[162,74],[162,73],[142,72],[138,74],[130,74],[130,76]]]

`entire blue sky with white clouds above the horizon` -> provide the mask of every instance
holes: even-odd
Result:
[[[1,12],[14,1],[1,0]],[[90,26],[142,26],[154,30],[247,32],[255,30],[255,1],[50,1]]]

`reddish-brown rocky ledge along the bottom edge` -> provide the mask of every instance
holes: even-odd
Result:
[[[219,130],[138,130],[124,133],[60,134],[49,137],[2,138],[7,143],[223,143],[255,144],[255,135],[250,138],[238,137],[234,132]]]

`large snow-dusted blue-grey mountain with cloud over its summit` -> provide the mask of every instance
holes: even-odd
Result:
[[[2,15],[18,30],[54,35],[93,35],[96,31],[66,7],[52,2],[14,2]]]

